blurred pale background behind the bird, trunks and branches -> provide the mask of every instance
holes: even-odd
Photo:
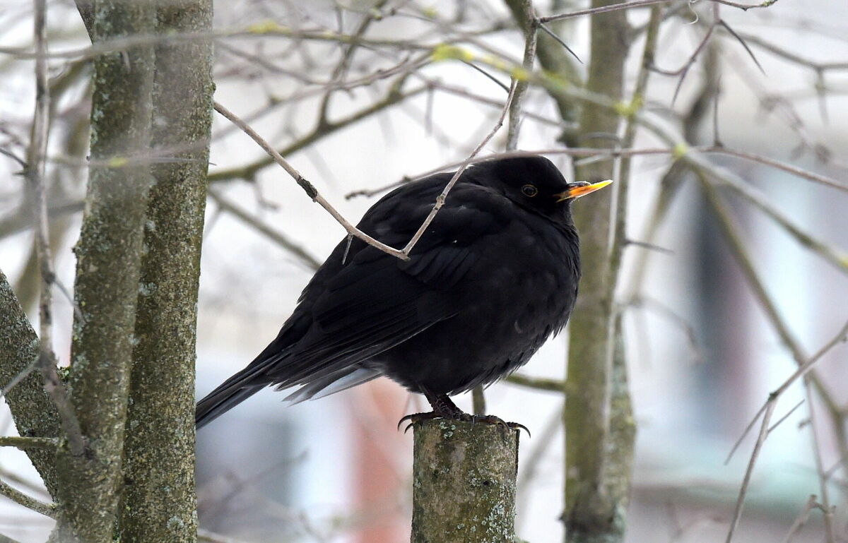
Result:
[[[535,3],[538,14],[586,6]],[[491,130],[505,101],[500,86],[509,84],[505,75],[459,62],[428,64],[429,50],[409,44],[432,47],[462,36],[469,47],[488,47],[516,63],[524,47],[505,4],[494,0],[253,0],[220,2],[215,9],[222,34],[239,33],[215,43],[216,101],[284,150],[352,221],[376,201],[352,192],[450,169]],[[848,319],[848,4],[784,0],[749,11],[722,5],[720,16],[732,31],[718,27],[704,45],[715,16],[712,3],[669,2],[664,9],[656,67],[675,70],[699,53],[683,79],[650,75],[648,113],[692,145],[720,142],[842,185],[840,190],[762,161],[710,155],[806,235],[799,242],[799,235],[762,208],[722,191],[767,296],[809,357]],[[0,2],[3,47],[31,44],[30,10],[23,1]],[[647,17],[646,9],[628,11],[636,31],[627,93],[639,70],[644,36],[638,30]],[[48,22],[52,51],[88,45],[73,3],[49,3]],[[588,22],[575,17],[556,27],[586,63],[596,61],[589,58]],[[263,35],[275,25],[361,32],[369,42],[342,62],[347,49],[332,39]],[[575,66],[578,72],[586,69]],[[85,169],[75,164],[86,154],[91,74],[72,55],[54,58],[51,70],[57,85],[51,131],[56,160],[48,168],[51,239],[59,279],[71,288],[70,248],[85,194]],[[20,155],[33,107],[31,60],[0,54],[0,74],[0,147]],[[544,91],[528,91],[524,112],[520,149],[562,148],[559,140],[570,125]],[[282,169],[251,166],[264,153],[226,119],[215,117],[213,137],[198,396],[273,339],[314,271],[311,261],[322,262],[344,234]],[[483,154],[502,152],[504,138],[505,129]],[[633,148],[656,147],[663,147],[661,141],[639,130]],[[548,156],[569,178],[574,160],[599,159]],[[31,217],[17,169],[0,157],[0,266],[36,319]],[[616,302],[624,315],[638,426],[628,540],[724,540],[757,429],[729,462],[726,458],[769,392],[795,371],[795,358],[728,248],[697,180],[674,171],[669,153],[634,156],[627,231],[637,243],[626,249]],[[72,308],[63,296],[56,296],[55,305],[56,349],[66,363]],[[563,379],[566,334],[551,339],[522,374]],[[806,508],[811,495],[835,507],[836,540],[848,540],[846,358],[843,342],[817,362],[815,379],[824,394],[808,396],[799,380],[781,397],[773,418],[779,424],[754,468],[738,540],[824,540],[822,511]],[[411,435],[395,425],[404,414],[421,410],[423,398],[388,380],[294,406],[282,403],[283,396],[263,391],[199,432],[202,535],[227,541],[408,540]],[[471,410],[467,396],[457,404]],[[499,383],[486,391],[486,399],[490,413],[521,422],[533,434],[522,435],[518,535],[528,541],[560,539],[563,397]],[[0,424],[14,433],[8,413]],[[0,470],[4,480],[43,492],[22,453],[0,450]],[[804,513],[809,521],[793,533]],[[50,526],[48,519],[0,498],[3,534],[40,541]]]

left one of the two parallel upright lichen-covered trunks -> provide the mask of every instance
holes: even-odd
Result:
[[[92,41],[150,34],[153,4],[96,3]],[[89,451],[60,446],[60,513],[52,540],[113,540],[120,493],[148,166],[153,47],[94,61],[92,167],[80,241],[70,395]]]

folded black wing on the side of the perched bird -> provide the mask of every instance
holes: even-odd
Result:
[[[393,247],[403,247],[434,200],[433,194],[432,200],[404,198],[401,205],[380,202],[360,228]],[[350,247],[341,244],[348,253],[341,255],[345,262],[321,282],[320,293],[311,291],[312,285],[304,291],[304,300],[312,302],[313,324],[295,346],[269,365],[267,375],[273,383],[286,388],[314,382],[375,357],[458,313],[461,301],[456,287],[486,250],[485,238],[497,235],[505,224],[484,200],[466,200],[460,191],[455,202],[445,204],[407,261],[359,240]],[[374,213],[382,208],[393,213]],[[338,258],[338,249],[331,258]]]

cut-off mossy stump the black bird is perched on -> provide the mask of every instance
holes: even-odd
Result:
[[[413,428],[412,543],[512,543],[518,432],[440,418]]]

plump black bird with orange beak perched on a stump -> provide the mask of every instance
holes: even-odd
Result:
[[[360,230],[404,247],[452,175],[388,193]],[[427,396],[420,415],[469,418],[449,395],[510,374],[565,326],[580,278],[571,203],[609,183],[568,183],[538,156],[488,160],[463,172],[409,260],[342,241],[276,339],[198,402],[198,427],[265,386],[302,385],[297,402],[380,375]]]

